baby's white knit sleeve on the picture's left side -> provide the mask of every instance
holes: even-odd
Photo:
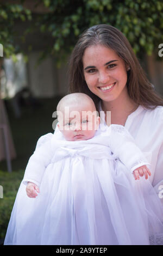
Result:
[[[53,151],[51,139],[53,134],[41,136],[37,141],[34,154],[30,157],[23,178],[23,183],[27,184],[28,181],[40,185],[43,173],[46,167],[51,162]]]

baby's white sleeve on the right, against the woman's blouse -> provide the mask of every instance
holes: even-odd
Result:
[[[145,155],[135,144],[134,138],[122,125],[110,125],[109,145],[112,153],[133,172],[136,168],[147,165]]]

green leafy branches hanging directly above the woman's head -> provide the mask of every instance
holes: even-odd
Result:
[[[163,42],[163,2],[155,0],[44,0],[50,12],[40,30],[54,38],[52,53],[70,52],[78,36],[93,25],[106,23],[127,36],[135,53],[151,54]]]

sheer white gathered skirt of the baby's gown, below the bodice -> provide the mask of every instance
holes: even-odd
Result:
[[[119,160],[66,157],[48,165],[36,198],[21,183],[4,244],[163,244],[161,207]]]

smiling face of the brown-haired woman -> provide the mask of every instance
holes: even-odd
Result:
[[[83,69],[87,86],[103,101],[114,101],[127,94],[126,65],[111,48],[103,45],[86,48]]]

